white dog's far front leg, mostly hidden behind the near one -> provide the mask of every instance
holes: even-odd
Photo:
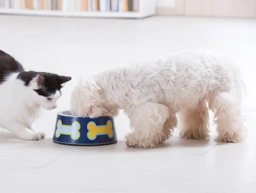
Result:
[[[169,108],[169,118],[167,118],[163,126],[163,133],[162,133],[163,135],[159,143],[163,143],[163,141],[166,141],[172,137],[172,133],[175,127],[177,127],[177,124],[178,124],[178,121],[177,121],[176,113],[173,112],[171,108]]]

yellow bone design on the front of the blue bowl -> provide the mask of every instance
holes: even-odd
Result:
[[[97,135],[108,135],[109,138],[113,137],[112,122],[108,120],[106,125],[96,125],[93,121],[87,124],[87,137],[90,140],[96,139]]]

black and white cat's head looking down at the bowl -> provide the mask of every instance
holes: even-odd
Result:
[[[61,76],[48,72],[20,72],[18,77],[24,82],[32,94],[31,100],[41,105],[46,110],[57,107],[58,98],[61,96],[61,88],[71,80],[69,76]]]

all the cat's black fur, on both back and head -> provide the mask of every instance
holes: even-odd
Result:
[[[69,76],[60,76],[48,72],[25,71],[23,66],[12,56],[0,50],[0,84],[2,84],[10,74],[18,73],[17,79],[24,82],[24,86],[29,86],[31,81],[37,78],[38,89],[34,89],[38,95],[48,97],[57,90],[60,91],[61,84],[70,81]]]

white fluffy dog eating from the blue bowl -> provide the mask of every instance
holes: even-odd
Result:
[[[184,51],[119,67],[80,81],[71,95],[71,112],[95,118],[124,109],[132,133],[129,147],[154,147],[172,136],[209,138],[208,107],[215,113],[218,141],[242,142],[243,84],[239,69],[223,55]]]

